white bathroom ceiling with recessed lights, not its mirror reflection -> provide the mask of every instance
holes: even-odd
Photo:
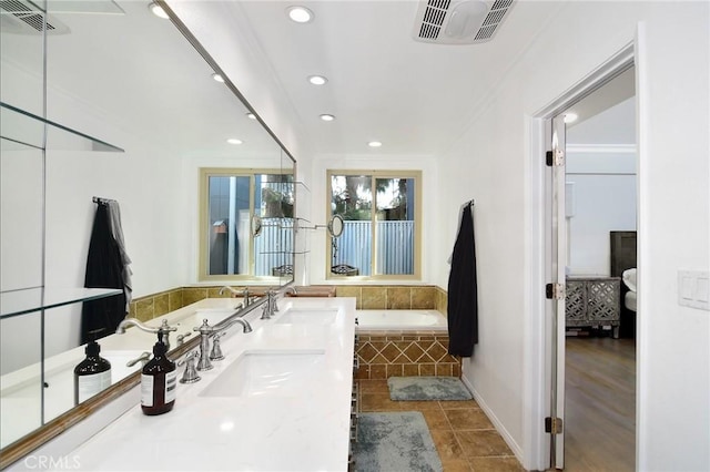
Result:
[[[493,41],[474,45],[417,42],[418,3],[303,1],[315,19],[286,17],[293,1],[233,2],[246,16],[255,44],[317,153],[437,154],[459,136],[540,29],[558,2],[518,1]],[[328,83],[306,78],[324,74]],[[239,86],[239,84],[237,84]],[[318,116],[329,113],[334,122]]]

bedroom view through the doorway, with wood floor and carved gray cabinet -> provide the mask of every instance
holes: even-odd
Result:
[[[636,314],[622,278],[636,270],[635,75],[628,69],[562,112],[564,468],[572,472],[636,468]]]

